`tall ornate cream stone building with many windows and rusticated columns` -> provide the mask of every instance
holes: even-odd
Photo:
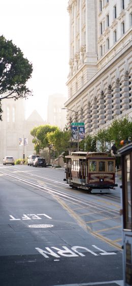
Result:
[[[70,73],[65,108],[86,134],[132,116],[132,0],[70,0]],[[68,111],[67,121],[77,113]]]

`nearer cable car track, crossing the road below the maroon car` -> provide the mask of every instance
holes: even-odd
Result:
[[[72,206],[73,205],[79,205],[82,208],[83,207],[92,208],[93,210],[97,211],[98,214],[100,214],[100,212],[102,212],[102,215],[106,215],[107,217],[110,217],[111,219],[116,220],[120,223],[120,216],[119,216],[118,210],[112,210],[106,206],[101,206],[97,203],[86,201],[86,199],[84,200],[82,198],[76,197],[74,194],[67,194],[67,193],[64,193],[60,190],[52,188],[52,187],[42,186],[39,183],[32,182],[29,179],[21,178],[19,176],[14,175],[14,174],[11,175],[9,173],[6,173],[5,171],[4,172],[0,171],[0,173],[3,175],[6,175],[12,179],[15,179],[16,181],[20,181],[21,183],[26,184],[30,187],[37,188],[38,190],[41,190],[45,193],[53,195],[56,198],[63,199],[64,201],[67,201],[69,204],[72,203]]]

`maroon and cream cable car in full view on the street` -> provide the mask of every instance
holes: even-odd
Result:
[[[110,193],[115,184],[115,157],[105,152],[71,152],[65,156],[64,180],[89,193]]]

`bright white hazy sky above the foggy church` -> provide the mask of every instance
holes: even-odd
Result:
[[[67,97],[69,73],[68,0],[1,1],[0,35],[12,40],[34,72],[28,82],[34,97],[26,101],[26,117],[36,109],[47,119],[48,96]]]

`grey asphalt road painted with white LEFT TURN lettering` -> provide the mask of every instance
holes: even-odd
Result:
[[[120,188],[89,195],[63,177],[0,165],[1,286],[123,285]]]

